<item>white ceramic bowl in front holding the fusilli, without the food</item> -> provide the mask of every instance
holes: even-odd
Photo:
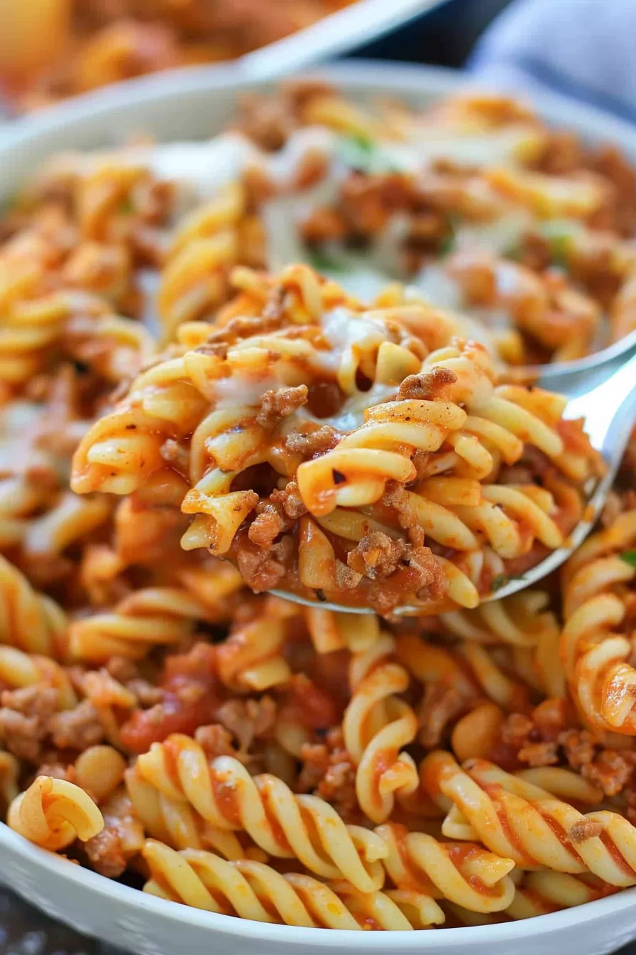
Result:
[[[457,89],[461,74],[356,61],[320,71],[349,96],[403,96],[416,105]],[[250,88],[232,67],[150,77],[82,97],[0,133],[0,195],[9,195],[43,159],[148,131],[158,139],[202,138],[231,117]],[[560,98],[535,104],[548,121],[593,140],[618,143],[636,162],[636,131]],[[636,938],[636,888],[524,922],[427,932],[344,932],[244,922],[164,902],[43,852],[0,823],[0,881],[51,916],[135,955],[603,955]]]

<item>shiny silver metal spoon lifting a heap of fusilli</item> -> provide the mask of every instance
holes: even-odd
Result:
[[[538,384],[543,380],[540,378]],[[590,385],[592,387],[590,387]],[[508,581],[496,594],[485,601],[500,600],[517,593],[524,587],[537,584],[542,578],[567,560],[589,534],[599,517],[607,494],[623,458],[627,441],[636,420],[636,353],[632,351],[629,360],[625,354],[619,354],[605,365],[585,371],[564,372],[562,377],[549,379],[550,389],[562,391],[568,396],[564,411],[566,420],[585,418],[585,431],[592,447],[601,453],[605,462],[605,475],[585,487],[588,497],[585,506],[585,520],[581,520],[569,535],[567,544],[552,551],[544,561],[526,570],[523,577]],[[561,387],[560,387],[561,386]],[[286,590],[274,590],[273,593],[296,604],[319,606],[322,609],[339,610],[344,613],[374,613],[369,607],[350,607],[345,605],[318,603]],[[413,606],[401,606],[394,613],[403,616],[417,616],[418,609]]]

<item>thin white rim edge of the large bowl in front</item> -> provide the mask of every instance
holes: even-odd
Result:
[[[440,67],[422,67],[413,64],[357,59],[311,71],[310,75],[324,77],[347,86],[350,90],[373,94],[401,93],[404,96],[427,94],[438,96],[462,88],[465,74]],[[34,117],[14,120],[10,130],[0,135],[0,178],[3,160],[11,157],[12,151],[24,150],[41,137],[72,130],[95,114],[116,113],[122,108],[129,112],[144,105],[163,102],[170,108],[170,101],[183,96],[214,93],[223,90],[233,95],[241,89],[253,86],[254,81],[236,71],[232,64],[214,68],[195,67],[178,71],[174,75],[155,75],[129,80],[87,96],[79,96],[53,106]],[[263,84],[260,84],[263,85]],[[483,87],[482,81],[478,84]],[[607,116],[600,110],[574,102],[564,96],[542,95],[535,97],[538,112],[548,120],[588,130],[595,137],[618,141],[636,159],[636,130],[616,117]],[[305,944],[313,946],[343,945],[347,948],[390,952],[399,947],[401,951],[416,949],[445,949],[467,944],[470,940],[480,944],[514,943],[528,935],[540,936],[548,932],[569,929],[574,925],[594,922],[625,910],[636,902],[636,887],[619,890],[616,894],[587,902],[584,905],[563,909],[532,920],[471,925],[459,928],[444,928],[435,932],[350,932],[343,929],[301,928],[292,925],[258,923],[233,916],[218,915],[191,908],[184,904],[168,902],[147,895],[131,886],[106,879],[70,862],[68,859],[47,852],[18,836],[0,822],[0,849],[13,859],[22,859],[31,868],[52,879],[61,879],[71,888],[80,884],[91,890],[102,902],[121,902],[127,908],[136,908],[149,915],[161,917],[175,925],[196,925],[211,932],[254,942],[275,944]],[[0,881],[2,874],[0,873]],[[19,885],[13,886],[18,891]],[[37,904],[37,902],[35,902]],[[55,917],[63,914],[56,912]],[[82,928],[87,931],[86,927]]]

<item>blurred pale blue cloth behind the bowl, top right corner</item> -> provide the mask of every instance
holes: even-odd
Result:
[[[636,123],[636,0],[515,0],[468,66],[491,88],[547,90]]]

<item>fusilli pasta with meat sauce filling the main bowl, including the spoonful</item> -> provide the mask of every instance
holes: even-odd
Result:
[[[636,327],[635,216],[617,150],[495,96],[304,82],[51,158],[0,218],[10,828],[315,928],[636,885],[633,441],[496,599],[603,474],[534,382]]]

